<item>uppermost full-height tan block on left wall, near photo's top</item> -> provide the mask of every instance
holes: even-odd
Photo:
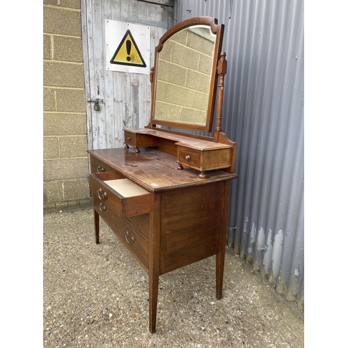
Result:
[[[79,11],[44,6],[43,32],[81,36],[81,15]]]

